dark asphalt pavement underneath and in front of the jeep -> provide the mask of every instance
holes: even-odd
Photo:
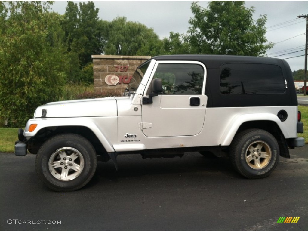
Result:
[[[307,230],[307,154],[308,145],[291,150],[258,180],[241,177],[228,158],[119,156],[119,172],[99,163],[86,187],[58,193],[39,181],[34,155],[0,153],[0,229]]]

